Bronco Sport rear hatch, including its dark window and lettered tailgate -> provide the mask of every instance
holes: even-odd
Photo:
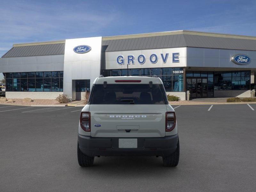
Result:
[[[89,99],[92,137],[164,137],[163,84],[94,84]]]

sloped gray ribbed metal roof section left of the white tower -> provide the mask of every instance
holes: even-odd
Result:
[[[12,47],[3,57],[26,57],[40,55],[62,55],[65,43]]]

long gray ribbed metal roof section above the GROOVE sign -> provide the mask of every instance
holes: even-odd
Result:
[[[102,41],[106,52],[172,47],[203,47],[256,51],[256,40],[202,35],[166,35]]]

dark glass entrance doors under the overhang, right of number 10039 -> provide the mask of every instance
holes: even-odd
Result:
[[[191,98],[207,97],[207,78],[187,78],[187,91]]]

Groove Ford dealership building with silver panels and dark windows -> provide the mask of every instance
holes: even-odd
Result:
[[[128,70],[127,70],[128,65]],[[251,97],[256,37],[168,31],[13,44],[0,58],[7,98],[80,100],[95,78],[160,77],[167,94]],[[131,77],[129,77],[131,78]]]

